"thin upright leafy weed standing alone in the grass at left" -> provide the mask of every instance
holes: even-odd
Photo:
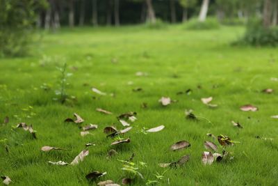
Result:
[[[69,85],[67,82],[67,77],[72,76],[72,73],[67,73],[67,63],[63,65],[62,68],[57,68],[60,72],[59,79],[59,88],[55,91],[55,94],[58,95],[58,98],[54,98],[54,100],[58,100],[61,104],[64,104],[69,97],[66,92],[66,87]]]

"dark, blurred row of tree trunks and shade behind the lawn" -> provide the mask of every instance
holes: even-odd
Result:
[[[195,0],[194,6],[188,6],[186,11],[182,1],[177,0],[48,0],[48,3],[38,19],[38,26],[46,29],[61,25],[139,24],[148,18],[152,20],[152,16],[163,22],[182,22],[198,15],[202,0]],[[216,3],[211,0],[209,11],[215,8]]]

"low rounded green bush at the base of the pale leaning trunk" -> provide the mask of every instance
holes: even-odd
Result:
[[[213,17],[206,18],[206,21],[200,22],[197,18],[193,18],[186,22],[186,29],[189,30],[210,30],[210,29],[219,29],[220,24],[217,19]]]

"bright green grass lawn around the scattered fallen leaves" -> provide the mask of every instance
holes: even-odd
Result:
[[[0,59],[0,119],[10,118],[0,126],[1,175],[9,176],[12,185],[97,185],[100,180],[122,185],[122,178],[133,175],[122,170],[124,163],[119,160],[129,160],[135,153],[132,161],[147,166],[140,166],[144,179],[136,176],[133,185],[158,180],[154,174],[164,171],[157,185],[278,185],[278,120],[270,118],[278,114],[278,82],[272,81],[278,77],[278,53],[275,48],[229,45],[243,32],[240,27],[185,31],[181,26],[161,30],[126,26],[42,33],[32,56]],[[65,92],[74,99],[60,104],[55,100],[61,76],[57,67],[64,63],[72,74]],[[92,92],[92,87],[107,95]],[[190,95],[177,94],[188,88]],[[261,93],[264,88],[275,91]],[[162,96],[177,102],[163,107],[158,102]],[[218,107],[201,102],[209,96]],[[143,102],[147,108],[141,107]],[[259,111],[240,111],[244,104],[253,104]],[[101,114],[97,108],[113,114]],[[187,119],[185,109],[193,109],[198,121]],[[131,142],[111,146],[115,139],[106,138],[104,127],[123,129],[117,116],[128,111],[136,111],[138,118],[129,122],[133,128],[123,136]],[[85,120],[82,126],[99,127],[81,137],[76,123],[64,122],[74,113]],[[231,121],[239,122],[243,129]],[[38,139],[15,128],[21,122],[32,124]],[[165,125],[164,130],[142,132],[143,127],[158,125]],[[213,141],[220,148],[217,139],[207,133],[240,141],[227,147],[234,159],[202,164],[202,153],[207,151],[204,141]],[[181,140],[191,146],[171,151],[170,146]],[[95,146],[85,148],[89,142]],[[67,150],[42,152],[42,146]],[[108,160],[112,148],[118,154]],[[48,163],[70,163],[84,149],[89,155],[75,166]],[[190,155],[190,160],[181,167],[158,166],[183,155]],[[107,174],[89,182],[85,176],[92,171]]]

